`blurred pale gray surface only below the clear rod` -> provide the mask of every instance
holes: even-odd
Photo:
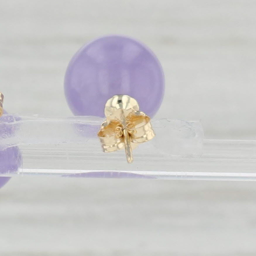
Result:
[[[251,256],[255,195],[254,182],[13,179],[0,194],[0,251]]]

